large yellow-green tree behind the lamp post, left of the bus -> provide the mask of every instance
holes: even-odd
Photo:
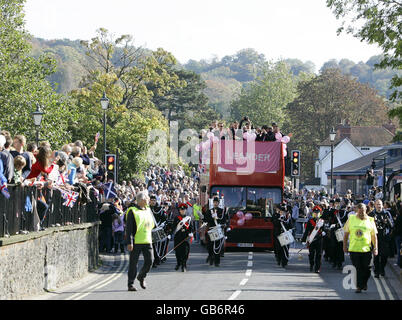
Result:
[[[133,178],[149,163],[147,139],[151,130],[167,134],[168,123],[157,108],[159,101],[181,98],[185,107],[191,99],[179,97],[175,90],[185,87],[187,82],[177,74],[176,59],[169,52],[141,51],[134,47],[131,36],[115,38],[103,28],[97,33],[91,42],[82,42],[88,57],[95,61],[95,68],[88,68],[81,88],[71,92],[80,115],[72,130],[88,143],[96,132],[103,130],[99,99],[105,92],[110,100],[106,117],[107,149],[120,150],[123,167],[120,177]],[[98,155],[102,152],[98,150]]]

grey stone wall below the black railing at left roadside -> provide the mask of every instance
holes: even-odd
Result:
[[[55,290],[99,266],[99,223],[0,238],[0,300]]]

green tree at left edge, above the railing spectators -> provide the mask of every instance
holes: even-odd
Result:
[[[45,113],[41,137],[57,147],[68,141],[67,125],[73,115],[68,100],[46,80],[55,71],[55,61],[48,55],[30,55],[24,4],[24,0],[0,0],[0,126],[34,140],[31,114],[39,105]]]

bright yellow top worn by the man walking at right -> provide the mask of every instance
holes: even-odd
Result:
[[[345,225],[345,232],[349,233],[349,252],[370,252],[371,234],[375,230],[374,218],[361,220],[351,215]]]

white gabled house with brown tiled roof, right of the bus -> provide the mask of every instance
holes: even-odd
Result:
[[[390,122],[383,126],[350,126],[348,121],[336,127],[333,167],[339,167],[389,145],[395,136],[395,126]],[[330,186],[325,172],[331,170],[331,142],[329,137],[319,144],[318,159],[315,162],[315,178],[321,186]]]

